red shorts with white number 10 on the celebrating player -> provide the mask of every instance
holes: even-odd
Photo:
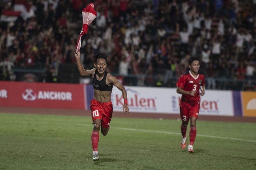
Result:
[[[91,100],[91,118],[93,121],[95,119],[101,120],[101,125],[103,128],[109,128],[109,124],[112,118],[113,105],[112,102],[99,102],[95,99]]]

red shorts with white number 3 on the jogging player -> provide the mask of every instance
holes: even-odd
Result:
[[[190,117],[198,118],[200,104],[196,104],[194,106],[185,106],[185,105],[186,105],[185,103],[182,103],[180,107],[180,114],[181,114],[182,121],[189,121]]]

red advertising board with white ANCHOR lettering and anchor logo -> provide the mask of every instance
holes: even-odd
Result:
[[[0,82],[0,106],[86,109],[83,85]]]

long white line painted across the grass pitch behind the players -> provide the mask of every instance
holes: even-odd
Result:
[[[78,124],[81,126],[91,126],[88,124]],[[118,127],[110,127],[111,129],[120,129],[126,131],[136,131],[136,132],[146,132],[146,133],[163,133],[163,134],[170,134],[170,135],[181,135],[181,133],[176,132],[165,132],[165,131],[151,131],[151,130],[142,130],[142,129],[131,129],[131,128],[118,128]],[[239,138],[232,138],[232,137],[222,137],[222,136],[210,136],[210,135],[200,135],[200,137],[208,137],[208,138],[218,138],[218,139],[228,139],[228,140],[239,140],[239,141],[246,141],[246,142],[256,142],[256,140],[248,140],[248,139],[239,139]]]

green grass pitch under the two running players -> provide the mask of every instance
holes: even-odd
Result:
[[[199,117],[194,154],[180,148],[180,124],[113,116],[94,162],[90,117],[3,113],[0,169],[256,169],[255,123]]]

